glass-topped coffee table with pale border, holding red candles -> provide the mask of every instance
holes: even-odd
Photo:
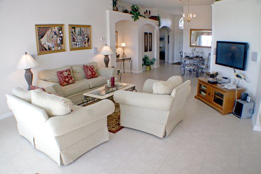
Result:
[[[99,87],[85,92],[83,104],[86,105],[89,101],[97,101],[106,98],[111,98],[117,90],[128,90],[137,92],[135,85],[133,84],[115,83],[114,87],[108,87],[107,85],[104,85],[103,87]]]

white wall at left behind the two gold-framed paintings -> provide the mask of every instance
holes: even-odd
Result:
[[[45,0],[44,3],[39,0],[7,0],[1,3],[0,115],[10,111],[4,94],[11,93],[13,87],[27,88],[24,70],[16,70],[24,52],[35,55],[35,60],[40,64],[32,69],[33,84],[37,72],[43,69],[90,61],[97,61],[99,66],[104,66],[103,56],[94,55],[92,49],[69,51],[68,24],[92,25],[92,47],[101,49],[106,44],[106,41],[100,41],[100,38],[106,38],[105,11],[110,8],[110,0],[78,0],[77,3],[73,0]],[[67,51],[37,56],[35,24],[65,24]]]

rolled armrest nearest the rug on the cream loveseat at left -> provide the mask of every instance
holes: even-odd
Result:
[[[88,106],[73,106],[73,111],[67,115],[50,117],[46,122],[52,136],[60,136],[93,122],[107,118],[115,110],[111,100],[104,99]],[[106,121],[104,124],[106,124]]]

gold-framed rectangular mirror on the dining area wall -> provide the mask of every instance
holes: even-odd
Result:
[[[190,47],[211,48],[212,30],[211,29],[190,29]]]

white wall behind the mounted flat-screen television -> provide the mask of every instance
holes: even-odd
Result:
[[[248,42],[246,71],[237,72],[244,74],[250,81],[240,82],[240,87],[245,87],[247,92],[256,98],[256,113],[253,124],[256,124],[260,107],[260,64],[261,64],[261,1],[258,0],[222,0],[213,5],[213,42],[211,56],[211,71],[218,71],[220,76],[234,78],[233,69],[215,64],[214,48],[216,41]],[[252,61],[252,53],[258,52],[258,62]],[[260,118],[259,118],[260,119]],[[259,125],[260,126],[260,125]]]

